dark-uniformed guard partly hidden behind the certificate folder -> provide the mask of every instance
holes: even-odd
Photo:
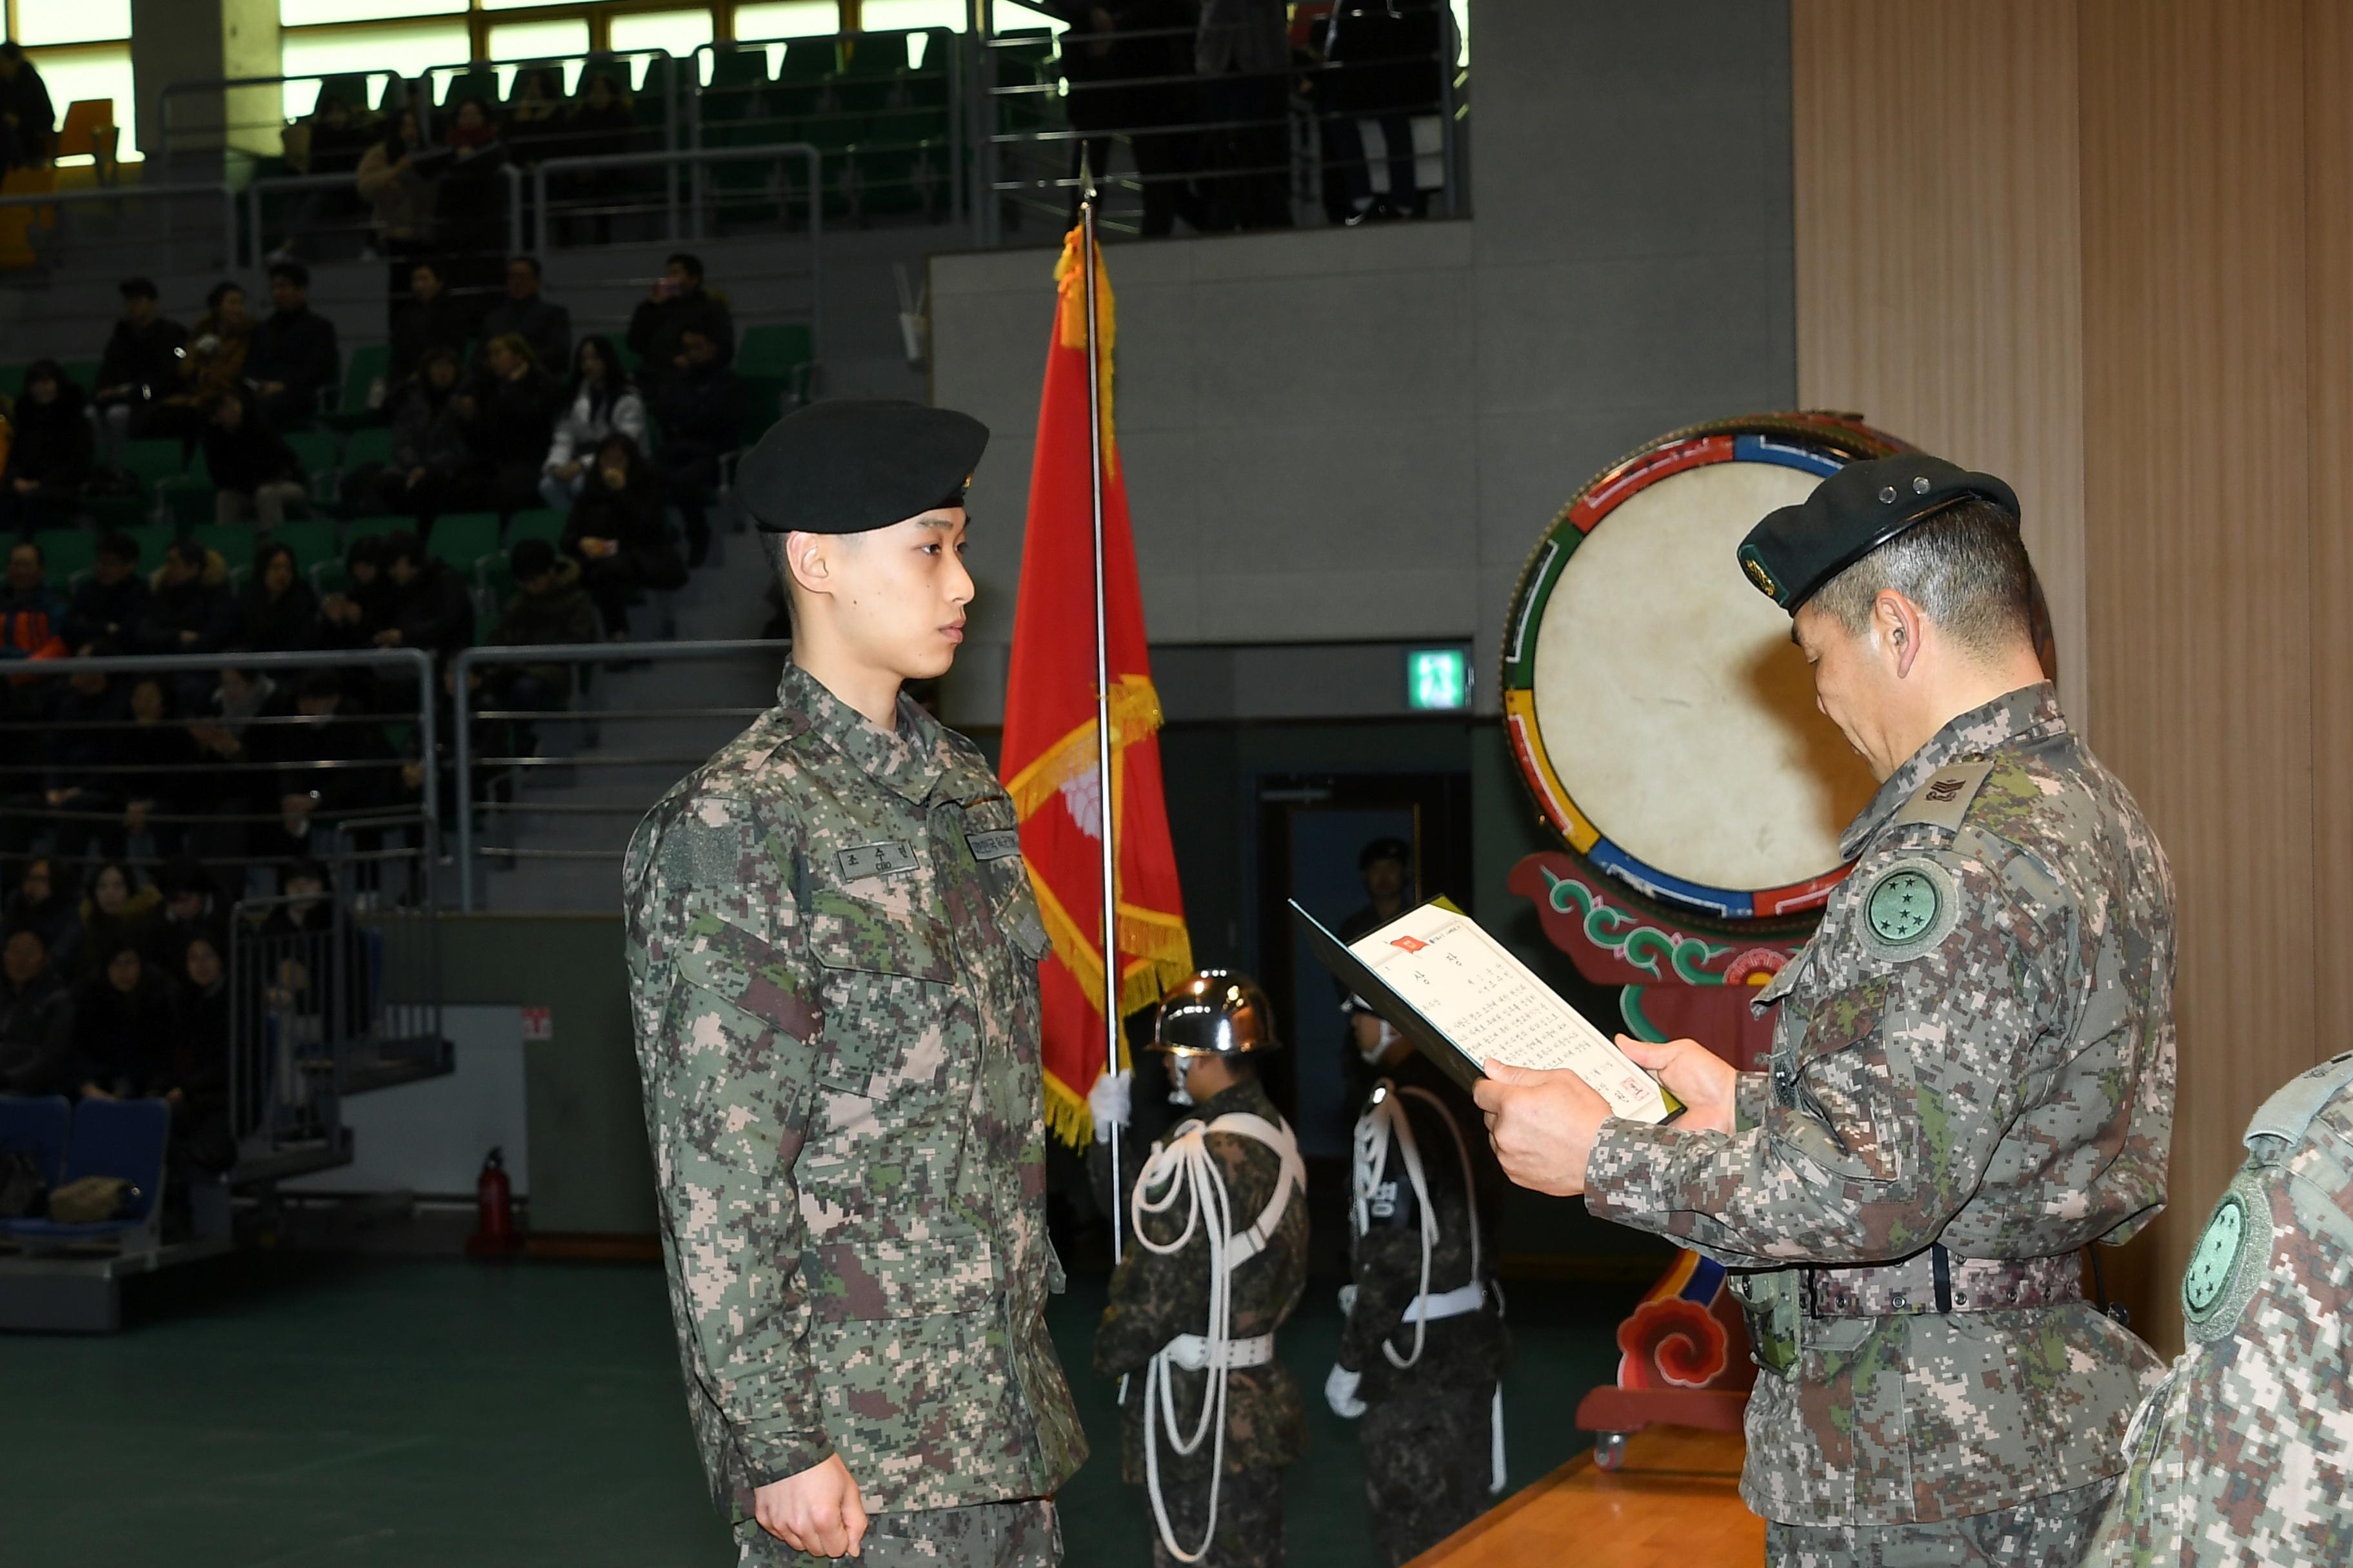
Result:
[[[1372,1540],[1402,1568],[1504,1488],[1511,1342],[1487,1227],[1501,1173],[1454,1079],[1358,999],[1346,1013],[1379,1081],[1355,1121],[1348,1321],[1325,1401],[1365,1422]]]

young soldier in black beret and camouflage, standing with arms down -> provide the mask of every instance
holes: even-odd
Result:
[[[628,846],[671,1312],[744,1563],[1045,1568],[1085,1458],[1045,1331],[1045,926],[981,750],[899,691],[962,639],[986,442],[906,402],[760,437],[736,496],[793,661]]]

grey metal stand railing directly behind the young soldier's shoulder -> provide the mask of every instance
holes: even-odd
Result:
[[[692,769],[711,757],[713,748],[699,752],[661,752],[661,755],[541,755],[532,745],[506,745],[489,755],[478,750],[478,726],[501,726],[506,736],[520,736],[539,726],[579,726],[591,733],[607,726],[628,724],[652,724],[666,722],[675,724],[680,719],[751,719],[767,712],[769,701],[732,703],[732,705],[656,705],[656,708],[508,708],[499,703],[499,691],[485,684],[492,696],[492,705],[475,708],[475,675],[492,668],[515,668],[515,665],[569,665],[572,670],[591,670],[609,663],[675,663],[675,661],[725,661],[744,656],[769,656],[776,665],[784,663],[784,654],[791,651],[791,642],[767,642],[767,639],[727,639],[727,642],[574,642],[574,644],[548,644],[548,646],[482,646],[466,649],[456,656],[456,670],[452,677],[452,701],[454,710],[454,752],[456,752],[456,886],[459,907],[468,914],[475,907],[475,860],[485,856],[496,856],[508,863],[518,860],[612,860],[619,863],[628,842],[628,830],[642,818],[659,790],[652,795],[633,795],[631,799],[591,799],[591,802],[529,802],[522,799],[525,790],[513,790],[511,799],[492,799],[501,780],[511,780],[515,773],[532,773],[544,769]],[[579,682],[574,682],[574,689]],[[492,736],[496,738],[496,736]],[[664,785],[668,788],[668,785]],[[511,825],[520,825],[529,816],[544,818],[619,818],[621,832],[602,846],[529,846],[529,844],[504,844],[485,849],[478,844],[480,830],[475,818],[501,818]]]

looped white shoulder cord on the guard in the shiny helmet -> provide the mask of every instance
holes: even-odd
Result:
[[[1257,1138],[1282,1157],[1275,1197],[1242,1237],[1233,1234],[1233,1206],[1226,1199],[1226,1178],[1217,1166],[1217,1157],[1209,1154],[1209,1133]],[[1160,1199],[1146,1197],[1160,1182],[1167,1182],[1167,1192]],[[1282,1208],[1289,1204],[1294,1182],[1301,1190],[1306,1187],[1306,1161],[1299,1159],[1299,1145],[1289,1138],[1289,1128],[1280,1128],[1278,1133],[1261,1117],[1233,1114],[1219,1117],[1209,1126],[1186,1121],[1167,1143],[1155,1143],[1153,1157],[1144,1164],[1144,1175],[1127,1197],[1136,1246],[1162,1258],[1181,1253],[1186,1241],[1193,1239],[1195,1227],[1209,1246],[1209,1326],[1202,1333],[1209,1352],[1205,1361],[1207,1382],[1200,1396],[1200,1422],[1191,1436],[1176,1432],[1176,1382],[1169,1375],[1172,1347],[1160,1347],[1144,1368],[1144,1488],[1153,1500],[1160,1542],[1181,1563],[1198,1563],[1209,1554],[1209,1542],[1217,1540],[1217,1490],[1226,1474],[1226,1380],[1231,1373],[1226,1345],[1233,1338],[1233,1272],[1266,1248],[1275,1220],[1282,1218]],[[1153,1241],[1151,1232],[1144,1229],[1144,1215],[1167,1213],[1176,1206],[1179,1194],[1191,1199],[1184,1229],[1174,1241]],[[1209,1526],[1193,1552],[1176,1544],[1167,1502],[1160,1497],[1160,1443],[1153,1436],[1153,1420],[1167,1432],[1169,1448],[1176,1455],[1191,1455],[1200,1448],[1202,1439],[1209,1439]]]

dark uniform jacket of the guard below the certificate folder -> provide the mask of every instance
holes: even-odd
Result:
[[[1355,1286],[1355,1295],[1339,1335],[1339,1363],[1365,1375],[1358,1394],[1367,1401],[1407,1399],[1417,1385],[1485,1389],[1494,1385],[1508,1354],[1504,1300],[1494,1291],[1492,1215],[1499,1213],[1501,1171],[1497,1171],[1494,1150],[1485,1138],[1487,1124],[1454,1086],[1454,1079],[1433,1067],[1419,1051],[1384,1070],[1381,1088],[1388,1093],[1426,1088],[1445,1103],[1461,1131],[1464,1147],[1471,1152],[1471,1187],[1464,1185],[1464,1161],[1438,1107],[1417,1095],[1398,1098],[1412,1121],[1414,1145],[1421,1152],[1421,1180],[1431,1194],[1431,1211],[1438,1215],[1438,1241],[1431,1248],[1431,1295],[1473,1281],[1471,1227],[1478,1225],[1478,1284],[1487,1288],[1487,1305],[1424,1326],[1421,1359],[1412,1368],[1400,1368],[1381,1354],[1384,1342],[1398,1356],[1414,1354],[1414,1328],[1405,1321],[1405,1309],[1421,1291],[1421,1201],[1405,1175],[1405,1154],[1395,1135],[1384,1133],[1388,1154],[1381,1161],[1381,1182],[1362,1201],[1353,1201],[1351,1192],[1348,1204],[1348,1281]],[[1372,1100],[1365,1103],[1365,1110],[1372,1110]],[[1358,1150],[1358,1159],[1362,1157],[1365,1152]]]

